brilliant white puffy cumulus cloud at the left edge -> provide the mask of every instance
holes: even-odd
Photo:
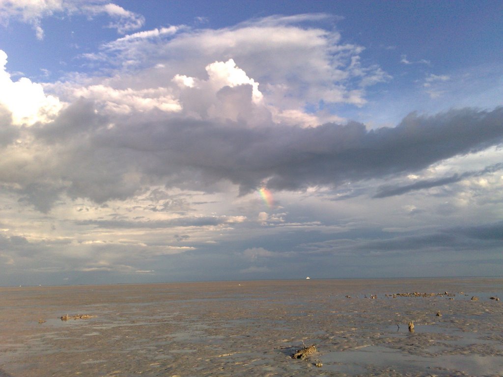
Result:
[[[48,122],[63,107],[57,97],[46,95],[41,84],[27,77],[17,81],[7,72],[7,54],[0,50],[0,105],[12,113],[13,123]]]

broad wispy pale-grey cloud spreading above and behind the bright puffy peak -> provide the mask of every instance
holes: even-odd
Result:
[[[157,78],[179,74],[203,80],[213,71],[201,67],[211,62],[231,64],[232,59],[248,78],[261,83],[259,88],[250,83],[254,97],[258,90],[267,93],[268,102],[280,112],[320,100],[361,106],[366,102],[365,88],[391,76],[378,66],[361,64],[362,46],[341,43],[333,29],[310,25],[320,20],[331,19],[327,15],[275,16],[218,30],[170,26],[161,29],[166,33],[153,29],[125,36],[104,44],[99,54],[86,56],[120,69],[143,68],[148,75],[148,68],[157,66]]]

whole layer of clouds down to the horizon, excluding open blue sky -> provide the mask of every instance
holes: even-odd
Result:
[[[0,11],[35,29],[73,13],[119,33],[142,26],[105,3]],[[330,277],[370,260],[364,274],[377,276],[411,255],[424,274],[459,255],[495,269],[503,107],[411,112],[388,127],[346,119],[338,109],[365,111],[395,78],[335,22],[138,31],[78,56],[96,69],[46,83],[13,78],[0,50],[0,271]],[[456,77],[417,85],[435,99]]]

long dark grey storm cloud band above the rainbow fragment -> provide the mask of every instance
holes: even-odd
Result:
[[[96,202],[125,199],[152,183],[211,191],[213,183],[227,179],[247,193],[269,179],[272,189],[297,190],[413,172],[503,139],[501,107],[431,117],[411,114],[395,128],[371,131],[355,122],[316,128],[267,123],[251,128],[245,120],[210,122],[163,115],[163,120],[145,121],[149,116],[159,118],[152,112],[143,118],[112,120],[115,126],[108,127],[110,120],[97,116],[91,103],[72,105],[51,124],[34,130],[40,141],[57,142],[52,150],[57,163],[47,176],[63,178],[70,197]],[[457,177],[444,179],[403,190]]]

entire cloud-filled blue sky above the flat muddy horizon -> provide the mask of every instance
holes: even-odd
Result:
[[[501,276],[503,3],[0,0],[0,285]]]

